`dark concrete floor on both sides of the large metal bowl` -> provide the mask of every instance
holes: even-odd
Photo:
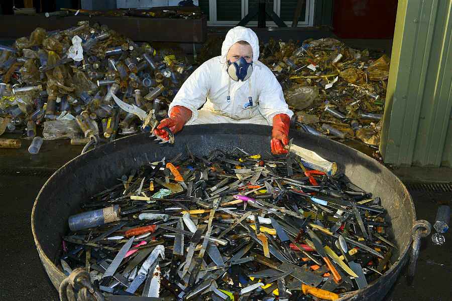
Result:
[[[6,136],[8,135],[8,136]],[[13,137],[5,134],[3,137]],[[0,241],[3,258],[0,260],[0,300],[58,300],[35,249],[30,215],[42,185],[50,174],[68,160],[76,157],[79,146],[68,140],[44,141],[38,155],[27,152],[30,140],[22,139],[20,149],[0,148]],[[434,222],[439,204],[450,204],[452,192],[411,192],[417,218]],[[450,300],[452,295],[452,235],[445,235],[446,243],[433,245],[430,236],[422,241],[417,274],[407,283],[405,267],[396,284],[385,296],[386,301]]]

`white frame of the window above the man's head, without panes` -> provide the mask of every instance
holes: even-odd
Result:
[[[218,21],[216,20],[216,2],[217,1],[227,1],[227,0],[209,0],[209,17],[210,20],[207,21],[207,26],[231,26],[236,25],[239,21]],[[282,0],[274,0],[273,1],[273,11],[276,15],[280,16],[281,14],[281,1]],[[314,5],[315,0],[306,0],[306,15],[305,21],[298,21],[297,27],[308,27],[314,24]],[[248,14],[249,0],[242,0],[242,19]],[[284,23],[290,27],[292,26],[292,21],[284,21]],[[257,27],[257,21],[248,22],[247,26]],[[267,27],[278,27],[275,22],[267,21]]]

